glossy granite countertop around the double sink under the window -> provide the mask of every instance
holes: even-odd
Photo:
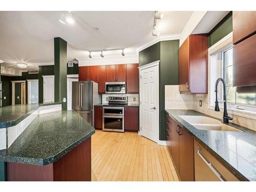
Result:
[[[229,121],[243,132],[199,130],[179,115],[209,115],[194,110],[165,110],[180,126],[241,181],[256,181],[256,132]],[[215,117],[211,117],[217,119]],[[223,122],[221,119],[218,119]]]

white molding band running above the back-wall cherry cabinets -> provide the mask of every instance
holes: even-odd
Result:
[[[125,55],[112,56],[112,57],[97,57],[97,58],[76,58],[78,60],[78,66],[100,66],[100,65],[114,65],[114,64],[128,64],[138,63],[139,55]]]

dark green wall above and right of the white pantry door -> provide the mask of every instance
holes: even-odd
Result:
[[[159,65],[159,140],[165,140],[165,85],[179,84],[179,40],[160,41],[139,52],[139,66],[160,60]]]

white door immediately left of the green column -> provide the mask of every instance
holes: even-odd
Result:
[[[54,75],[44,75],[44,102],[54,102]]]

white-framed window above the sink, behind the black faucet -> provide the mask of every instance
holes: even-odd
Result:
[[[238,105],[256,105],[255,93],[237,93],[233,87],[233,48],[222,52],[223,78],[227,84],[227,102]]]

